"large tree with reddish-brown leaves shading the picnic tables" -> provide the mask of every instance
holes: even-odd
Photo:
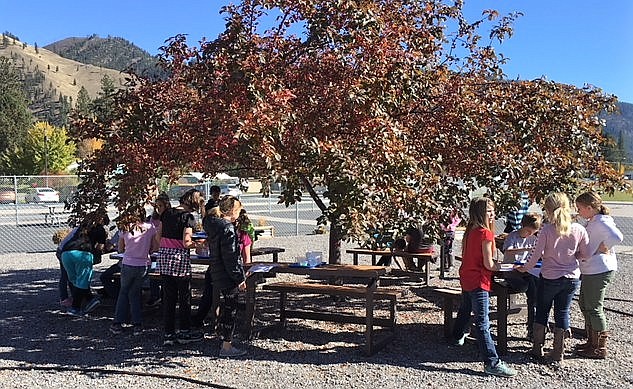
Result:
[[[224,8],[226,30],[199,48],[164,48],[168,80],[139,80],[108,120],[78,118],[104,148],[88,162],[93,204],[116,178],[119,205],[159,174],[241,166],[307,192],[342,239],[426,222],[433,230],[486,186],[501,209],[521,191],[574,192],[587,176],[621,184],[600,155],[598,89],[509,81],[492,43],[517,15],[462,2],[259,0]],[[263,26],[270,15],[276,22]],[[479,33],[486,28],[489,41]],[[265,29],[268,28],[268,29]],[[327,188],[321,201],[314,188]],[[89,188],[86,187],[86,193]]]

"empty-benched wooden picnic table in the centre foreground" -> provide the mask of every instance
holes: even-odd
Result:
[[[242,327],[242,333],[251,337],[253,334],[253,319],[255,317],[255,311],[257,307],[257,284],[262,280],[269,277],[274,277],[276,274],[288,273],[305,275],[315,277],[319,279],[338,279],[344,280],[346,278],[363,279],[366,286],[362,287],[342,287],[340,285],[332,285],[331,288],[327,288],[328,285],[320,284],[326,287],[324,294],[346,295],[353,297],[362,297],[365,300],[365,316],[361,320],[365,324],[365,351],[367,354],[374,353],[378,348],[384,345],[384,341],[377,344],[374,342],[374,296],[377,293],[379,278],[388,273],[389,269],[383,266],[365,266],[365,265],[330,265],[326,264],[314,268],[310,267],[295,267],[294,264],[289,263],[254,263],[248,267],[249,276],[246,279],[246,312],[245,320]],[[311,284],[315,285],[315,284]],[[318,284],[316,284],[318,285]],[[306,284],[297,283],[293,289],[292,286],[284,288],[284,292],[306,292]],[[264,288],[266,285],[264,285]],[[346,289],[347,288],[347,289]],[[282,291],[281,289],[271,287],[271,290]],[[307,293],[316,293],[314,290],[308,290]],[[285,296],[285,294],[282,294]],[[395,298],[394,298],[395,299]],[[283,308],[283,300],[281,301],[281,309]],[[395,310],[395,303],[394,308]],[[294,313],[294,316],[292,315]],[[280,314],[282,314],[280,312]],[[351,319],[351,316],[343,316],[335,313],[307,313],[305,311],[288,311],[284,309],[283,312],[286,317],[300,317],[310,318],[314,320],[327,320],[336,322],[352,322],[360,323],[358,320]],[[349,321],[348,321],[349,320]],[[393,324],[395,327],[395,312],[393,318]],[[391,339],[391,337],[389,337]]]

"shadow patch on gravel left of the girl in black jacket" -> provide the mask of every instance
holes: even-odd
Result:
[[[138,364],[178,367],[174,355],[211,355],[211,342],[165,349],[160,309],[144,312],[145,332],[113,335],[108,331],[114,304],[105,301],[90,316],[76,318],[60,310],[53,269],[0,274],[0,358],[24,364],[77,365],[86,368]],[[213,351],[216,350],[215,344]],[[132,362],[134,361],[134,362]]]

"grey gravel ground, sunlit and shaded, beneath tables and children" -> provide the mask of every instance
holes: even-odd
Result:
[[[327,252],[327,236],[274,238],[257,244],[286,247],[282,260],[292,260],[308,250]],[[463,348],[446,344],[439,301],[415,280],[391,282],[409,293],[398,303],[396,338],[374,356],[364,356],[357,346],[363,340],[362,326],[290,320],[286,330],[242,342],[247,357],[227,360],[217,358],[219,340],[210,336],[187,346],[163,347],[158,310],[145,311],[146,331],[138,337],[129,331],[119,336],[107,331],[112,302],[104,302],[88,318],[67,316],[57,304],[54,253],[1,255],[0,387],[630,388],[631,250],[621,249],[620,271],[607,293],[612,330],[608,359],[580,359],[568,351],[562,366],[538,364],[527,355],[530,343],[523,339],[525,317],[513,315],[509,353],[504,359],[519,375],[511,380],[483,374],[474,341]],[[350,256],[344,258],[351,263]],[[99,269],[109,262],[104,259]],[[453,279],[438,280],[434,271],[431,282],[433,286],[457,286],[456,270],[451,275]],[[272,321],[275,295],[261,292],[258,297],[257,321]],[[312,303],[331,301],[317,298]],[[348,309],[361,309],[354,302],[349,304]],[[581,327],[576,303],[572,316],[572,325]],[[580,341],[568,340],[568,350]]]

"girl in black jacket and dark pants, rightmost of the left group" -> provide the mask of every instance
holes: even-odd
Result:
[[[209,217],[204,220],[207,233],[210,271],[213,287],[218,288],[223,296],[219,327],[222,332],[220,357],[237,357],[246,351],[234,347],[233,331],[237,312],[237,296],[246,289],[244,269],[233,223],[240,214],[242,204],[232,196],[226,196],[219,202],[220,218]]]

